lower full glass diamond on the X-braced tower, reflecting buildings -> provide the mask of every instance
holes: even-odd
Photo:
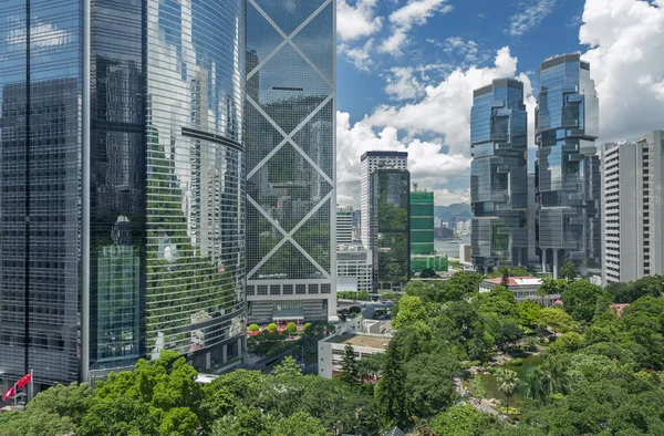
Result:
[[[295,227],[332,186],[290,144],[284,144],[249,180],[252,198],[286,231]]]

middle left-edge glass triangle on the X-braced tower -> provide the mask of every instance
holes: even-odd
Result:
[[[261,160],[283,141],[283,136],[249,102],[245,106],[247,114],[247,133],[245,148],[247,150],[247,172],[251,172]]]

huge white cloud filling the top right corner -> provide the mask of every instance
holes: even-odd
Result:
[[[587,0],[582,19],[601,141],[664,128],[664,0]]]

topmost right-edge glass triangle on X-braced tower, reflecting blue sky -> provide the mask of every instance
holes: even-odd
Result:
[[[328,4],[325,9],[315,15],[315,18],[292,39],[292,42],[330,81],[332,81],[334,75],[332,6],[333,3]]]

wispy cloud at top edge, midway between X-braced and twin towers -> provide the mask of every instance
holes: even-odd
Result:
[[[378,50],[400,55],[408,42],[408,31],[414,25],[426,24],[426,20],[435,13],[448,13],[452,9],[447,0],[409,0],[404,7],[390,14],[392,35],[383,41]]]

